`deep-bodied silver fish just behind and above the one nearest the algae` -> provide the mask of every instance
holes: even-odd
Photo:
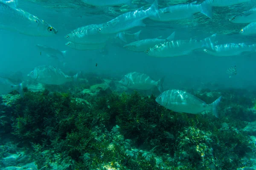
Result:
[[[157,87],[158,90],[163,92],[164,78],[154,81],[147,74],[139,72],[131,72],[126,74],[119,82],[127,88],[137,90],[149,90]]]

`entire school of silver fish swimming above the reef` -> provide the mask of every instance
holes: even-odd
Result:
[[[241,54],[255,53],[256,44],[226,43],[218,44],[215,41],[216,34],[205,37],[201,40],[189,39],[178,40],[175,38],[175,32],[170,32],[169,37],[155,37],[148,39],[140,39],[142,30],[132,33],[129,30],[135,27],[146,27],[143,20],[150,19],[154,22],[169,22],[174,20],[188,19],[192,20],[195,13],[201,13],[202,16],[212,19],[213,7],[227,7],[238,4],[247,3],[250,0],[205,0],[204,2],[192,2],[188,4],[178,4],[159,8],[158,0],[146,0],[151,3],[148,8],[140,7],[135,11],[128,11],[124,14],[113,18],[105,23],[93,23],[82,26],[67,33],[64,37],[67,42],[65,45],[74,50],[101,50],[106,49],[107,44],[115,42],[122,46],[123,49],[142,52],[151,57],[177,57],[192,54],[195,50],[201,50],[205,54],[224,57],[236,56]],[[133,6],[132,0],[82,0],[83,3],[96,6]],[[49,23],[37,16],[30,14],[23,9],[17,8],[17,2],[0,1],[0,29],[16,31],[20,34],[28,36],[53,36],[58,31]],[[234,24],[244,24],[239,32],[240,35],[253,36],[256,35],[256,8],[248,11],[241,11],[229,19]],[[35,44],[40,51],[40,55],[63,60],[67,55],[67,51],[59,51],[58,49],[48,47],[46,45]],[[64,64],[64,62],[63,62]],[[96,64],[97,66],[97,64]],[[236,66],[230,67],[227,74],[236,75]],[[33,81],[49,85],[61,85],[70,81],[77,81],[80,72],[74,76],[64,74],[61,69],[51,65],[38,65],[33,68],[28,77]],[[213,115],[219,117],[217,106],[221,101],[221,96],[211,104],[206,104],[201,99],[180,90],[163,90],[164,78],[158,81],[151,79],[147,74],[139,72],[127,73],[119,82],[121,85],[137,90],[149,90],[158,88],[160,96],[156,102],[163,107],[176,112],[198,114],[203,111],[211,111]],[[26,86],[25,82],[13,84],[8,78],[0,77],[0,94],[8,94],[10,91],[16,90],[23,96],[22,88]]]

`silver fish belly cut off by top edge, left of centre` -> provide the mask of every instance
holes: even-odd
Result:
[[[118,6],[122,4],[131,4],[132,0],[82,0],[91,6]]]

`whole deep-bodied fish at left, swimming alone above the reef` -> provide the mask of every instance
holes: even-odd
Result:
[[[73,77],[64,74],[61,69],[51,65],[40,65],[35,67],[28,76],[37,82],[48,85],[61,85],[66,82],[77,81],[80,72]]]

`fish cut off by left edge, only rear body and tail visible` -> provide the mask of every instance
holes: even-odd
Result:
[[[12,91],[19,92],[20,96],[24,96],[23,92],[24,83],[14,85],[9,79],[0,77],[0,94],[9,94]]]

